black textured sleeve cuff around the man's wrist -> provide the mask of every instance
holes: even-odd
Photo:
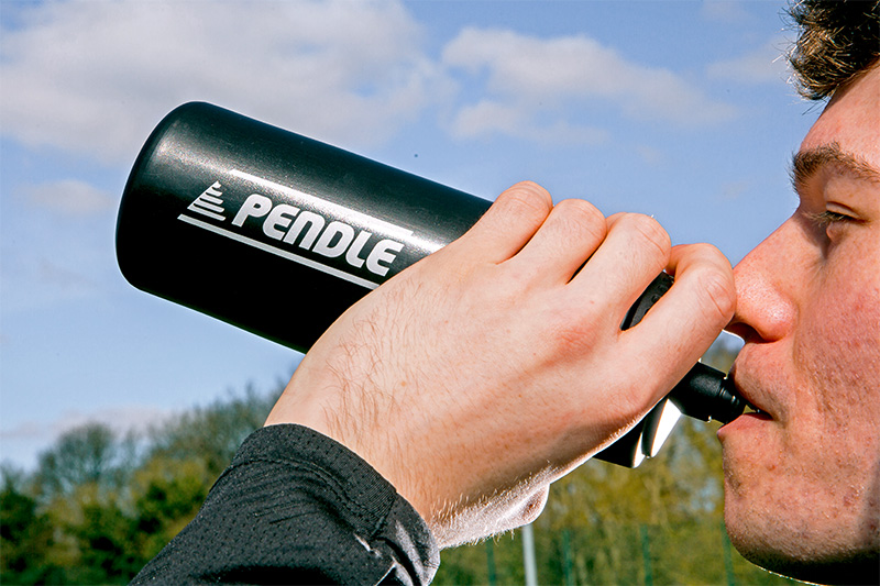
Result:
[[[428,584],[439,564],[425,521],[366,462],[308,428],[272,425],[132,584]]]

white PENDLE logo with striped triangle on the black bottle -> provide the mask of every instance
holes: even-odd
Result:
[[[177,219],[369,289],[378,287],[384,279],[377,277],[388,274],[413,236],[411,230],[262,177],[237,169],[230,175],[244,186],[217,180],[189,203],[190,213]],[[242,188],[251,194],[228,213],[231,200],[241,198],[224,200],[224,194]]]

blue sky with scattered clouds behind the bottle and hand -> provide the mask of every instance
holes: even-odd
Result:
[[[733,263],[794,208],[820,110],[781,1],[0,0],[0,457],[143,428],[299,355],[153,298],[113,233],[153,125],[204,100],[494,198],[650,213]]]

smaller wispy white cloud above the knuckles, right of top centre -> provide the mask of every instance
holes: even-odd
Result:
[[[582,35],[544,40],[471,27],[446,46],[442,62],[482,81],[492,97],[461,109],[454,123],[460,136],[488,131],[518,135],[524,124],[535,126],[549,112],[565,119],[608,107],[632,119],[684,126],[725,122],[736,114],[733,106],[711,99],[672,71],[628,62]],[[548,131],[554,125],[543,123]],[[598,136],[582,130],[587,140]]]

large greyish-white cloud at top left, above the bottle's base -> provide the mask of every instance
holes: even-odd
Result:
[[[442,93],[419,26],[397,1],[74,0],[18,10],[0,42],[3,133],[109,162],[131,161],[152,125],[189,100],[372,144]]]

